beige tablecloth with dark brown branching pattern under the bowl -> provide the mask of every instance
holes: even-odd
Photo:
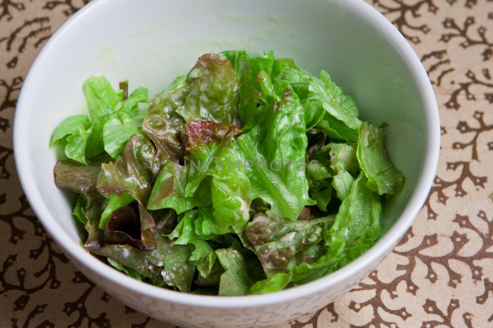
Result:
[[[50,35],[87,0],[0,0],[0,327],[171,327],[111,298],[49,239],[20,187],[16,99]],[[353,290],[282,327],[493,327],[493,1],[374,0],[426,68],[437,176],[418,218]]]

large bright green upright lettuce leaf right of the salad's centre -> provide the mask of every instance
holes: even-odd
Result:
[[[284,86],[275,83],[277,89],[282,89],[277,91],[281,99],[266,104],[262,125],[239,136],[236,145],[252,164],[246,172],[252,198],[262,198],[272,211],[296,220],[309,200],[305,171],[295,167],[297,161],[305,161],[307,137],[303,108],[292,89]]]

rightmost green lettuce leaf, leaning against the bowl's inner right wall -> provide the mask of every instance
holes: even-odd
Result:
[[[384,128],[364,122],[359,129],[357,159],[368,181],[367,187],[379,195],[398,194],[404,186],[404,176],[390,162],[385,150]]]

